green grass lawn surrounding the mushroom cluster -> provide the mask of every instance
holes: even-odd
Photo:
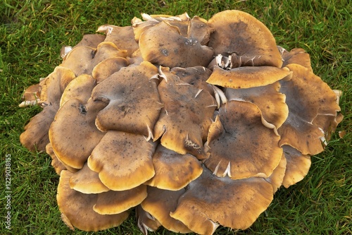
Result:
[[[87,233],[70,231],[56,205],[58,176],[45,153],[28,152],[19,143],[25,123],[39,107],[18,108],[27,86],[46,77],[61,63],[64,44],[75,45],[99,25],[129,25],[139,13],[210,18],[225,9],[251,13],[272,31],[277,44],[302,47],[315,73],[332,88],[344,91],[345,118],[325,152],[312,157],[303,181],[281,188],[272,205],[246,231],[219,228],[216,234],[352,234],[352,6],[344,0],[322,1],[29,1],[0,4],[0,169],[11,155],[11,231],[13,234],[140,234],[132,216],[120,227]],[[5,228],[5,181],[1,181],[0,234]],[[154,233],[151,233],[154,234]],[[155,234],[172,234],[159,229]]]

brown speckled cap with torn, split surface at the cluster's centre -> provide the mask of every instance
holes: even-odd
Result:
[[[163,80],[158,85],[164,107],[154,126],[154,140],[161,137],[161,145],[182,155],[187,152],[203,159],[203,140],[217,106],[206,90],[180,80],[161,68]]]

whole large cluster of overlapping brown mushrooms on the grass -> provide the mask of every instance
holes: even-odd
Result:
[[[116,227],[133,209],[143,234],[246,229],[343,118],[309,54],[248,13],[142,14],[97,32],[63,47],[20,104],[43,108],[20,142],[51,156],[71,229]]]

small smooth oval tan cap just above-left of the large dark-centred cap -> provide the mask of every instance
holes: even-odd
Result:
[[[103,80],[108,78],[108,76],[111,76],[111,74],[128,65],[129,63],[127,59],[123,57],[106,59],[93,68],[92,76],[96,80],[96,83],[101,83]]]

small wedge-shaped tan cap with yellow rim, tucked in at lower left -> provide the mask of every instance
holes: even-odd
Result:
[[[98,173],[89,169],[87,162],[70,177],[70,188],[81,193],[103,193],[110,190],[101,183]]]

